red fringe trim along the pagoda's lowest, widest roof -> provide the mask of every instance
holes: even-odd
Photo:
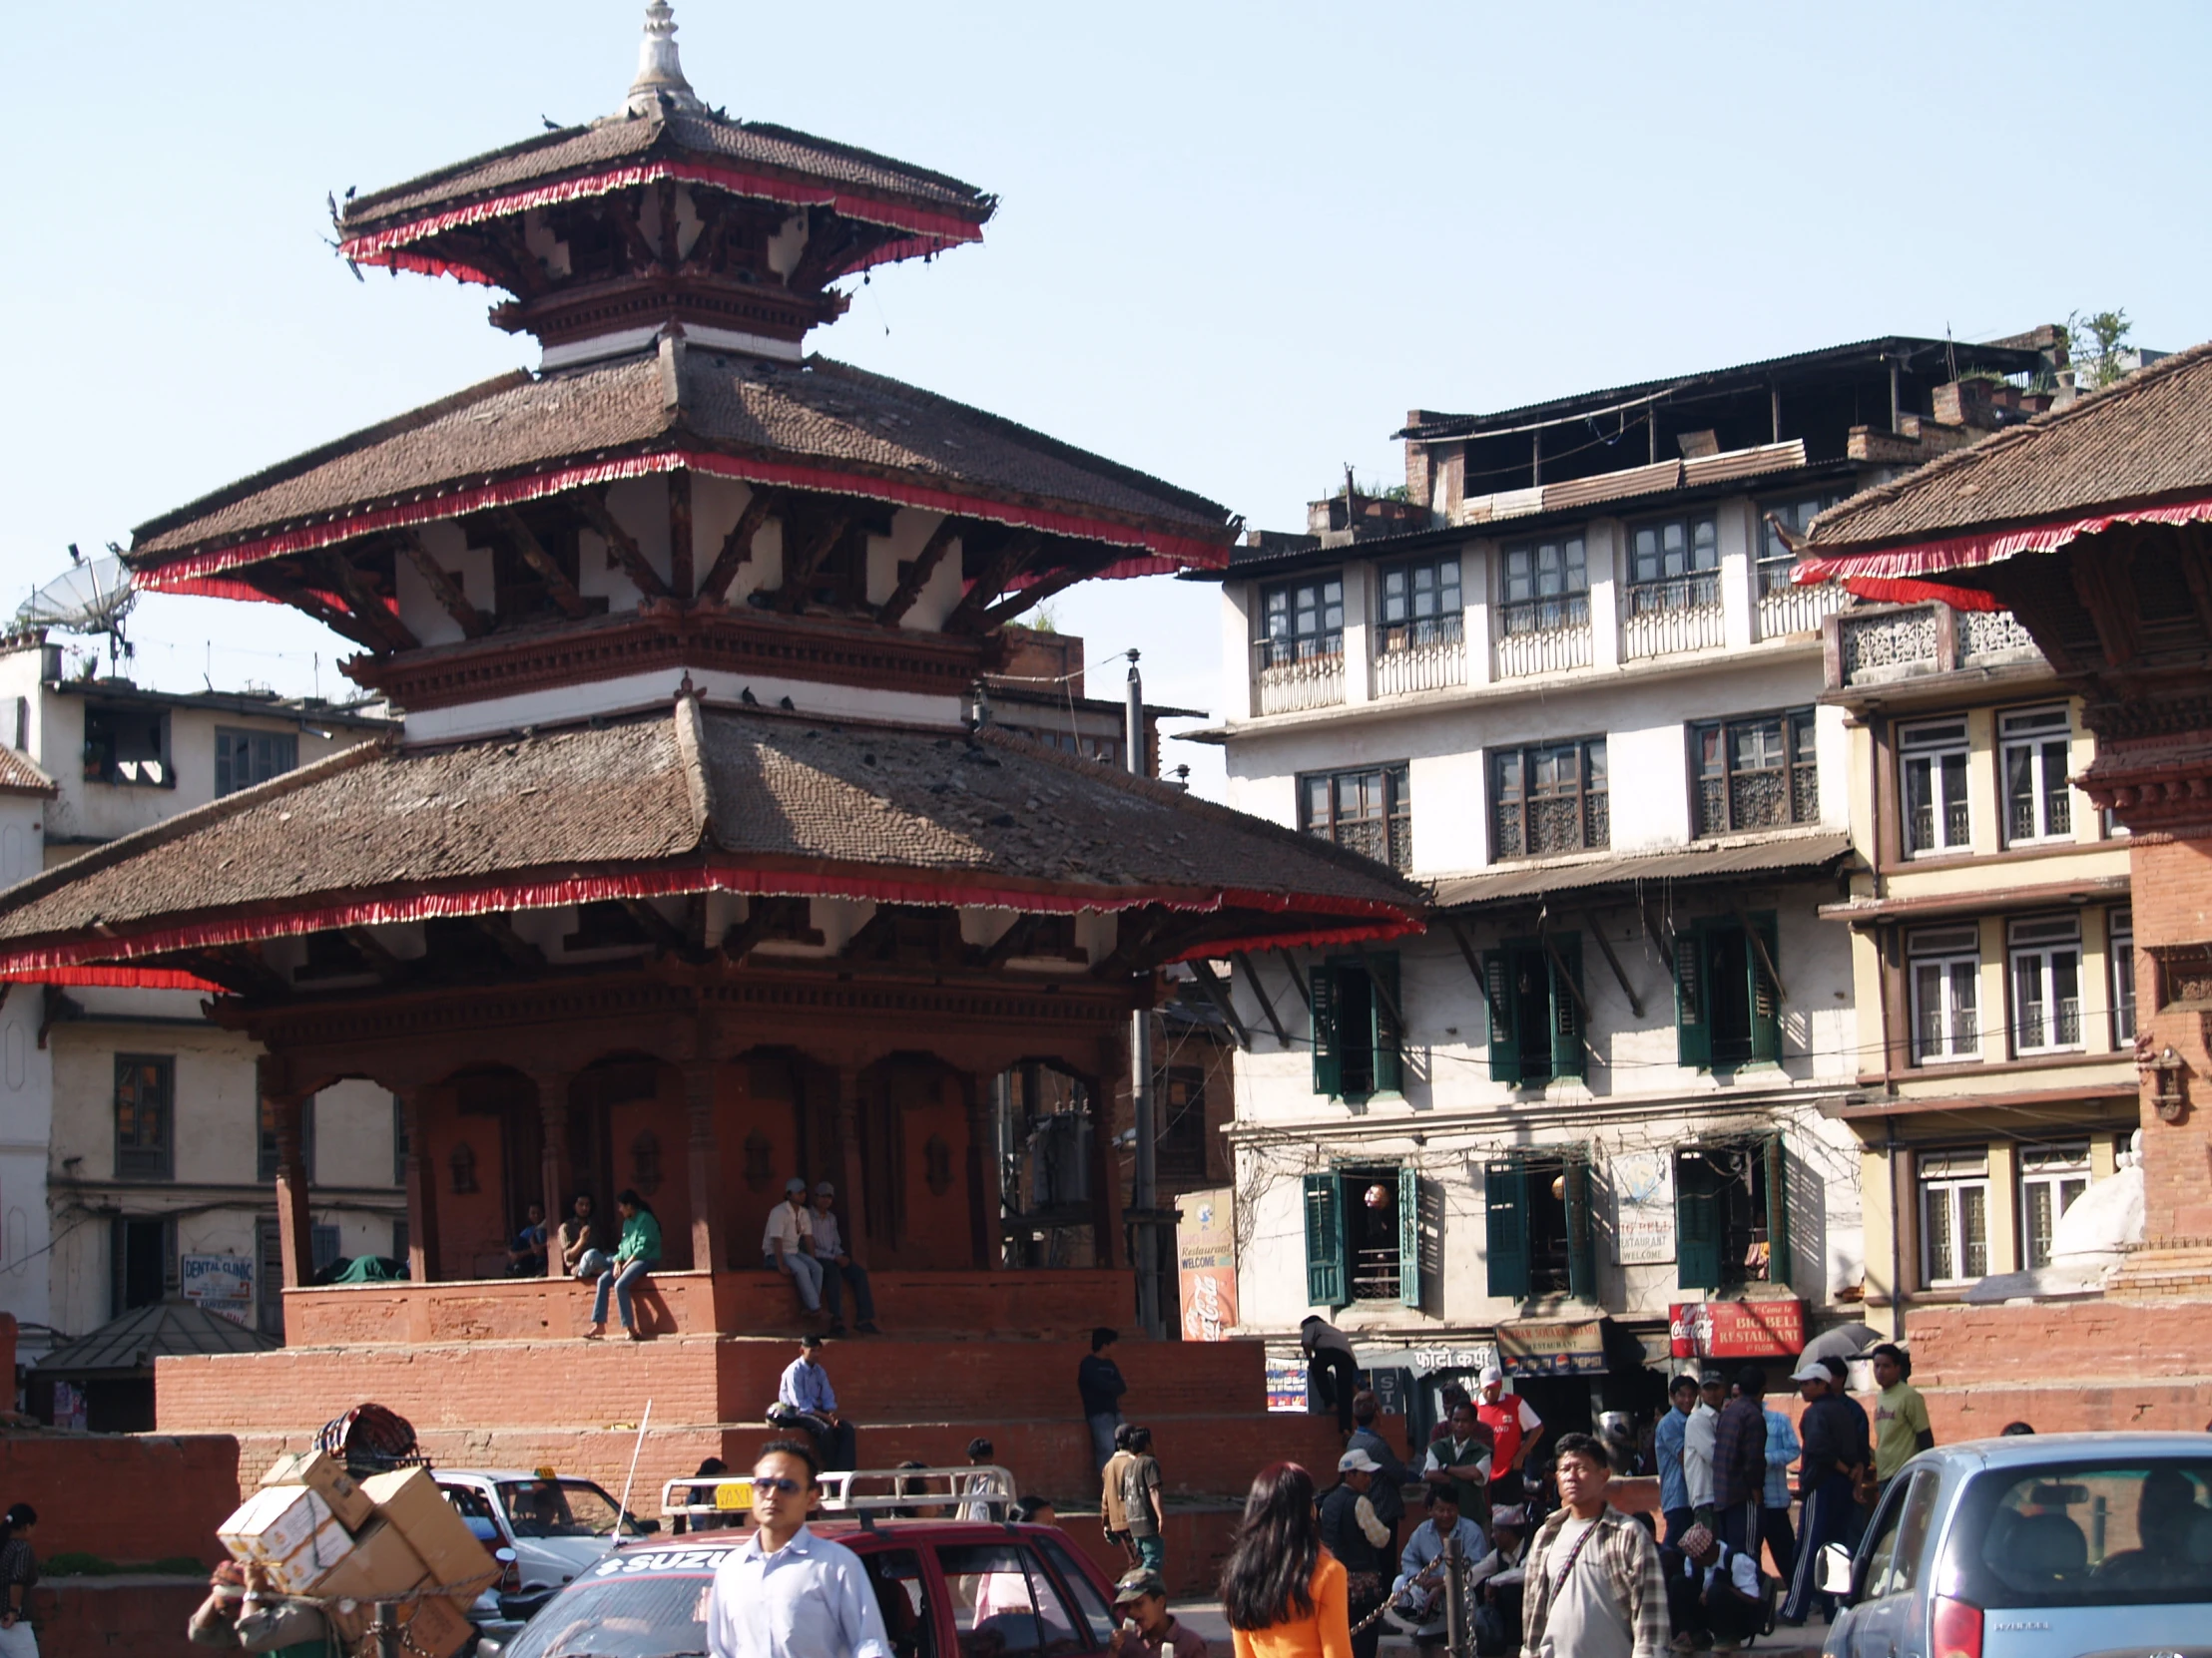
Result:
[[[301,933],[325,933],[343,926],[380,926],[389,922],[420,922],[434,915],[484,915],[513,909],[560,909],[566,904],[588,904],[606,898],[679,898],[690,893],[723,891],[763,898],[860,898],[878,904],[951,904],[984,909],[1018,909],[1029,913],[1073,915],[1077,911],[1124,911],[1141,904],[1164,904],[1177,911],[1225,911],[1256,909],[1272,913],[1321,911],[1345,915],[1345,928],[1312,928],[1292,935],[1287,942],[1396,937],[1416,931],[1411,911],[1363,898],[1332,898],[1303,893],[1256,893],[1243,889],[1175,889],[1175,886],[1119,886],[1113,891],[1082,889],[1024,889],[960,884],[929,880],[925,875],[827,875],[814,871],[754,869],[732,862],[688,864],[681,869],[635,869],[602,875],[553,875],[544,880],[480,882],[451,886],[445,891],[416,891],[405,898],[352,900],[345,904],[319,904],[281,911],[232,911],[221,917],[197,922],[175,922],[146,931],[117,928],[104,937],[75,937],[66,944],[44,944],[29,948],[0,946],[0,979],[53,979],[55,970],[80,970],[86,964],[131,962],[144,955],[166,955],[168,951],[197,951],[221,944],[250,944],[270,937],[296,937]],[[1279,940],[1259,933],[1234,948],[1261,948]],[[1194,955],[1219,953],[1223,944],[1206,944]],[[91,968],[100,970],[100,968]],[[190,975],[177,975],[188,979]],[[192,979],[192,986],[199,982]],[[177,986],[177,988],[192,988]]]

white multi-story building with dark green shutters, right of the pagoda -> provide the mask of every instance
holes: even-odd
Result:
[[[1416,411],[1405,500],[1239,548],[1230,805],[1436,900],[1418,940],[1237,962],[1245,1329],[1495,1346],[1573,1426],[1650,1404],[1672,1309],[1712,1357],[1858,1315],[1840,595],[1790,586],[1785,531],[2033,407],[2051,345]]]

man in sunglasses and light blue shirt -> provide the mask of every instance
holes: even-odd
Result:
[[[761,1446],[752,1463],[757,1530],[721,1559],[708,1594],[712,1658],[891,1658],[860,1559],[807,1530],[818,1481],[812,1446]]]

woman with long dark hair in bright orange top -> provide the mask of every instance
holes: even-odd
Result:
[[[1314,1477],[1294,1461],[1261,1468],[1221,1570],[1237,1658],[1352,1658],[1343,1563],[1321,1547]]]

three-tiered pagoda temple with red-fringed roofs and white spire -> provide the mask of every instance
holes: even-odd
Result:
[[[1130,1012],[1179,959],[1416,924],[1374,862],[991,723],[975,688],[1011,621],[1075,581],[1225,564],[1237,522],[810,354],[841,283],[978,241],[995,203],[708,108],[668,4],[646,15],[606,119],[343,206],[343,259],[495,290],[540,369],[135,533],[144,588],[352,639],[403,732],[0,900],[0,975],[199,986],[265,1050],[294,1351],[192,1386],[164,1362],[164,1428],[294,1386],[303,1344],[573,1337],[580,1287],[487,1280],[526,1200],[580,1189],[650,1194],[655,1335],[796,1329],[757,1242],[794,1174],[838,1185],[894,1333],[1126,1322]],[[991,1083],[1024,1066],[1095,1103],[1084,1271],[1002,1269]],[[305,1287],[301,1108],[341,1079],[403,1112],[407,1284]],[[703,1357],[699,1386],[734,1386]],[[1256,1377],[1256,1349],[1237,1364]]]

